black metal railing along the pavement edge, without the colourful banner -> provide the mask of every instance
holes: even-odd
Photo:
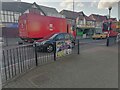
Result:
[[[79,54],[79,40],[72,48],[72,53]],[[26,72],[38,65],[54,62],[56,56],[56,42],[54,51],[38,51],[36,45],[21,45],[13,48],[3,48],[2,53],[2,83],[6,83],[12,78]],[[72,54],[71,53],[71,54]]]

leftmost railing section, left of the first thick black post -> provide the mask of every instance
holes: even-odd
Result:
[[[35,67],[33,45],[3,49],[2,83]]]

